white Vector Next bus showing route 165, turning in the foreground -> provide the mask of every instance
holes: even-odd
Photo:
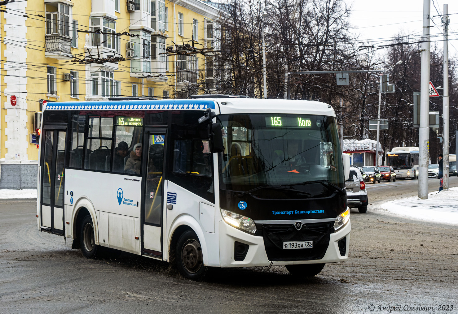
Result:
[[[122,250],[196,280],[211,266],[314,276],[348,259],[349,158],[327,104],[53,102],[42,121],[38,228],[87,258]]]

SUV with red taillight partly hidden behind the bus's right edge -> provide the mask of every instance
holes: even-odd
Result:
[[[349,208],[358,208],[360,213],[367,212],[367,192],[366,185],[358,167],[350,167],[350,176],[345,181],[347,189],[347,200]]]

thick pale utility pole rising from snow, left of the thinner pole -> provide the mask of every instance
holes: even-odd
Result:
[[[430,80],[430,0],[423,0],[423,36],[421,43],[420,128],[418,197],[428,199],[429,164],[429,80]]]

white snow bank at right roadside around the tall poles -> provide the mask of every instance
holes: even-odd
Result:
[[[381,207],[400,216],[458,225],[458,187],[432,192],[427,200],[409,197],[383,203]]]

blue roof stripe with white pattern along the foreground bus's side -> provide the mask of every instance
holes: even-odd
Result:
[[[215,109],[214,101],[132,100],[47,102],[46,110],[205,110]]]

